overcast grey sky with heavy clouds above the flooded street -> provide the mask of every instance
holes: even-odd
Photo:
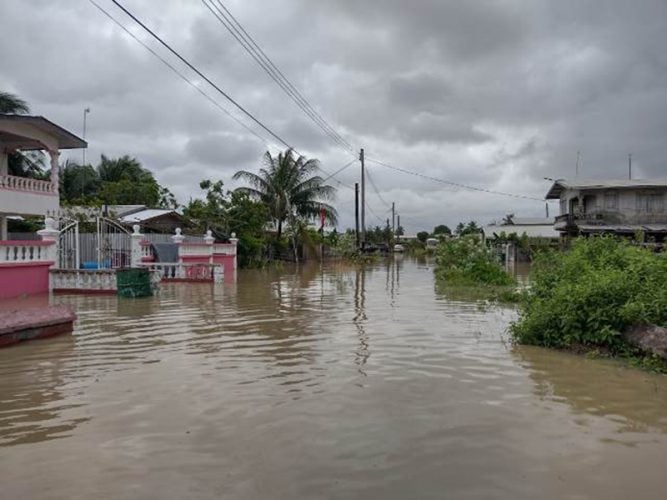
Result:
[[[110,0],[96,0],[220,105],[233,107]],[[287,98],[200,0],[123,0],[204,74],[329,172],[352,155]],[[224,0],[308,101],[368,157],[456,183],[541,198],[544,177],[666,177],[665,0]],[[0,89],[79,135],[88,159],[129,154],[181,203],[201,179],[229,188],[261,141],[88,0],[0,2]],[[269,143],[267,145],[267,142]],[[274,141],[275,142],[275,141]],[[80,151],[71,153],[81,159]],[[470,191],[367,163],[367,224],[396,202],[408,232],[545,203]],[[358,181],[358,162],[337,178]],[[353,191],[338,185],[341,226]],[[384,200],[384,201],[383,201]],[[551,206],[551,215],[556,206]]]

